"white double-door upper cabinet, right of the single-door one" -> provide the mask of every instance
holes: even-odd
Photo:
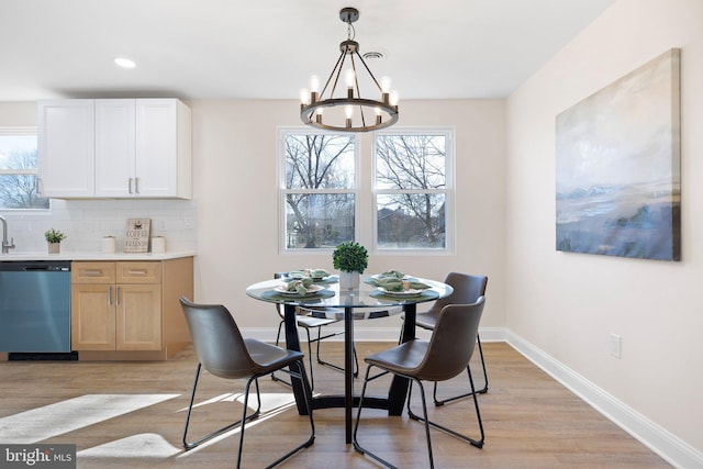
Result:
[[[190,109],[176,99],[96,101],[96,197],[190,199]]]

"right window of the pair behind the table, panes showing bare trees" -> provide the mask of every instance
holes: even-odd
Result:
[[[450,136],[448,131],[376,135],[378,249],[450,247]]]

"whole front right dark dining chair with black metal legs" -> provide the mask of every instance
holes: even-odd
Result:
[[[448,304],[437,314],[437,321],[428,340],[415,338],[364,359],[368,366],[364,377],[364,387],[361,389],[361,397],[359,398],[357,418],[353,434],[354,448],[357,451],[368,455],[384,466],[393,467],[380,456],[364,448],[358,440],[359,422],[361,421],[361,410],[364,409],[367,384],[369,381],[387,373],[393,373],[411,380],[408,390],[408,415],[413,420],[424,423],[431,468],[434,468],[432,440],[429,437],[431,426],[468,442],[478,448],[483,447],[486,436],[476,392],[471,392],[471,395],[473,397],[473,406],[476,407],[476,416],[481,434],[480,439],[472,439],[436,422],[431,422],[427,418],[427,403],[425,401],[425,391],[422,382],[446,381],[458,376],[465,369],[468,369],[467,367],[476,347],[476,337],[478,335],[479,322],[481,321],[484,303],[486,297],[479,297],[479,299],[471,304]],[[373,368],[378,368],[380,372],[371,376],[370,372]],[[468,369],[468,373],[471,391],[475,391],[470,369]],[[414,384],[417,384],[420,388],[422,415],[415,414],[411,409]]]

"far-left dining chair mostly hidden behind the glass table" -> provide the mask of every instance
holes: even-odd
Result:
[[[288,272],[276,272],[274,273],[275,279],[284,278],[288,276]],[[281,321],[278,323],[278,333],[276,334],[276,345],[279,345],[281,338],[281,330],[283,328],[284,323],[284,314],[283,308],[281,304],[276,303],[276,311],[280,316]],[[344,368],[325,361],[322,359],[320,355],[320,343],[325,338],[335,337],[337,335],[344,334],[344,331],[335,331],[333,333],[322,335],[322,328],[328,326],[330,324],[338,323],[344,314],[343,309],[338,308],[298,308],[297,312],[299,314],[295,315],[295,322],[299,327],[302,327],[305,331],[308,336],[308,359],[310,360],[310,386],[312,389],[315,389],[315,376],[312,369],[312,344],[315,344],[315,357],[317,359],[317,364],[324,365],[331,368],[334,368],[338,371],[344,371]],[[312,338],[310,335],[310,330],[316,330],[317,337]],[[359,376],[359,359],[356,356],[356,347],[354,348],[354,376]],[[278,378],[276,375],[271,375],[271,379],[274,381],[280,381],[286,384],[290,384],[289,382]]]

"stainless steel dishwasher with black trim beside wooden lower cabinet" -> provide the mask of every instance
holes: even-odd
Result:
[[[9,351],[10,360],[49,358],[52,354],[72,359],[70,261],[1,260],[0,351]]]

